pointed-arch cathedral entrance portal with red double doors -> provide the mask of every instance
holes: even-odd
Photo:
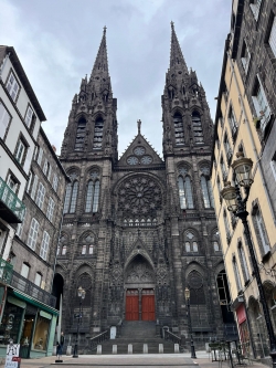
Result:
[[[155,272],[138,254],[125,272],[126,320],[156,320]]]

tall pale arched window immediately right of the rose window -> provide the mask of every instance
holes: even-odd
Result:
[[[191,178],[188,168],[181,167],[178,177],[179,201],[182,210],[194,208]]]

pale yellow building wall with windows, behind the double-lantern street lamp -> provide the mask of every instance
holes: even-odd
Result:
[[[250,252],[244,235],[244,225],[242,221],[235,218],[226,208],[225,201],[221,198],[220,191],[224,187],[224,179],[234,186],[232,162],[236,159],[236,153],[242,149],[244,156],[253,160],[253,185],[251,187],[250,197],[247,200],[248,211],[248,225],[251,230],[252,241],[255,250],[257,263],[259,264],[261,277],[263,285],[275,285],[275,270],[276,266],[276,229],[275,229],[275,213],[273,206],[269,201],[267,193],[265,176],[259,161],[262,159],[262,145],[258,132],[255,127],[254,113],[252,113],[244,87],[243,78],[240,74],[237,63],[232,59],[231,41],[226,42],[224,53],[224,65],[221,76],[220,94],[217,97],[217,111],[215,119],[214,146],[213,146],[213,166],[212,166],[212,187],[215,201],[215,212],[217,218],[219,231],[221,243],[224,254],[225,271],[229,277],[229,286],[232,297],[233,311],[236,313],[236,320],[242,343],[251,345],[252,354],[255,350],[258,355],[256,346],[263,346],[264,355],[267,355],[268,340],[266,336],[266,328],[264,318],[262,317],[262,305],[259,301],[258,287],[253,275],[252,262]],[[231,109],[236,120],[236,132],[231,125]],[[225,143],[225,135],[227,136],[229,144]],[[229,159],[227,159],[229,157]],[[221,160],[225,165],[225,174]],[[245,193],[241,190],[242,197]],[[266,233],[269,249],[264,250],[259,239],[259,231],[256,224],[255,206],[258,204],[261,217],[263,219],[264,232]],[[226,224],[226,223],[227,224]],[[242,251],[240,250],[242,248]],[[242,254],[243,253],[243,254]],[[236,269],[234,266],[236,265]],[[265,267],[265,269],[264,269]],[[245,270],[247,269],[247,271]],[[265,271],[266,270],[266,271]],[[270,270],[270,273],[267,272]],[[275,291],[275,288],[274,288]],[[272,305],[273,290],[266,290],[267,303],[270,308],[272,319],[276,328],[276,317]],[[254,305],[254,311],[251,311],[250,305]],[[246,318],[246,326],[243,326],[242,309],[244,306],[244,315]],[[258,311],[257,311],[258,309]],[[251,326],[251,314],[255,313],[255,317],[259,317],[256,327],[258,335],[262,335],[262,341],[257,337],[257,329]],[[253,318],[254,319],[254,318]],[[255,324],[256,324],[255,318]],[[253,348],[254,346],[254,348]],[[262,356],[262,354],[261,354]]]

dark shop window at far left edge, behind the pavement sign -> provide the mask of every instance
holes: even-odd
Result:
[[[14,344],[19,343],[18,338],[23,311],[23,308],[17,305],[9,302],[6,303],[2,323],[0,325],[0,344],[8,345],[10,339],[12,339]]]

